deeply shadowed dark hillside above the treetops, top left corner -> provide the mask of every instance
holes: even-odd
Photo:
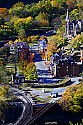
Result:
[[[17,2],[23,2],[24,4],[36,3],[39,0],[0,0],[0,8],[10,8],[13,4]]]

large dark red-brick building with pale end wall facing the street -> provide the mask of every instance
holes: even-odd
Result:
[[[56,54],[57,56],[57,54]],[[79,65],[74,62],[73,57],[60,57],[51,60],[51,72],[55,77],[73,77],[80,73]]]

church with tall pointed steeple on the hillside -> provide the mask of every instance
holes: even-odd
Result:
[[[68,38],[68,40],[71,40],[72,37],[75,37],[77,34],[81,34],[82,31],[83,31],[83,21],[82,20],[71,21],[67,9],[65,34],[63,38]]]

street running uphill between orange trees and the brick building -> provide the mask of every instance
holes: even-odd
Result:
[[[45,65],[45,60],[41,59],[41,56],[38,52],[38,44],[35,44],[32,47],[32,50],[35,52],[34,61],[38,73],[38,82],[45,84],[58,82],[58,79],[52,78],[52,75],[48,72],[47,65]]]

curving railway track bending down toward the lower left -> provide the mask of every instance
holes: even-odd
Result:
[[[23,102],[23,112],[21,116],[15,121],[14,125],[25,125],[24,123],[32,118],[33,108],[28,96],[22,90],[17,88],[10,88],[14,95],[20,98]]]

